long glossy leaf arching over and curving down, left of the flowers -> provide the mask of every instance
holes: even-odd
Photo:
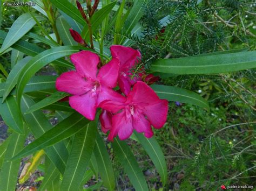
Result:
[[[72,53],[78,52],[81,47],[79,46],[60,46],[48,49],[35,57],[33,57],[21,70],[21,75],[19,75],[17,83],[17,102],[18,105],[21,102],[21,96],[26,83],[30,80],[32,75],[38,72],[39,69],[43,68],[45,65],[53,60],[62,58],[63,56],[70,55]]]

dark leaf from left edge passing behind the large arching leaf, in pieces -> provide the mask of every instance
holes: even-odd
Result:
[[[7,35],[6,32],[0,30],[0,44],[3,43],[6,35]],[[29,56],[36,56],[37,54],[45,51],[44,48],[41,48],[41,47],[39,47],[35,44],[32,44],[32,43],[28,43],[25,40],[18,40],[11,47],[14,48],[14,49],[17,49],[18,51],[23,52],[24,54],[29,55]],[[74,66],[70,62],[68,62],[64,59],[58,59],[58,60],[53,61],[52,63],[54,63],[55,65],[58,65],[58,66],[74,68]]]

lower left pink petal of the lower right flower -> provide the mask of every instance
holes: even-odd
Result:
[[[109,140],[113,140],[118,135],[120,140],[129,138],[132,135],[132,118],[126,116],[126,112],[120,112],[112,118],[112,129],[109,133]]]

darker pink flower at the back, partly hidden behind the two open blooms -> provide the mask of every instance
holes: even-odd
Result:
[[[112,58],[117,58],[120,61],[120,69],[118,76],[118,86],[125,95],[128,95],[131,86],[137,81],[142,81],[140,77],[131,79],[132,73],[130,70],[136,66],[141,59],[140,52],[131,47],[113,45],[110,47]]]

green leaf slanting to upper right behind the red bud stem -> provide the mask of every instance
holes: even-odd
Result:
[[[92,33],[94,33],[96,31],[96,29],[98,28],[98,26],[100,24],[102,24],[103,20],[110,13],[110,11],[113,9],[115,4],[116,4],[116,2],[112,2],[110,4],[107,4],[102,9],[98,10],[97,12],[95,12],[95,14],[93,14],[93,16],[91,18]],[[89,30],[88,30],[88,25],[87,24],[84,25],[84,29],[82,31],[81,36],[86,41],[89,40]]]

